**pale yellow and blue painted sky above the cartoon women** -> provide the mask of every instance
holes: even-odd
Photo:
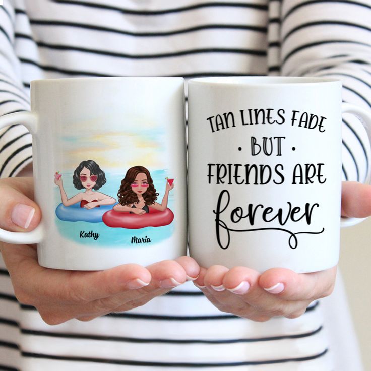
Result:
[[[128,122],[128,117],[126,120]],[[136,116],[129,120],[130,125],[125,120],[114,122],[109,117],[104,121],[78,122],[73,133],[63,133],[61,137],[62,166],[66,170],[74,169],[83,160],[94,160],[103,169],[118,171],[135,165],[166,168],[164,129],[148,121],[148,117],[144,120]]]

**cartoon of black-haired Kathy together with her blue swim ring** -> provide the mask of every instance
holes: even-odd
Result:
[[[76,189],[85,191],[68,198],[63,187],[62,175],[59,172],[54,174],[54,183],[59,187],[61,198],[61,204],[55,210],[57,217],[65,221],[101,222],[103,213],[112,208],[109,205],[116,203],[113,197],[97,192],[106,183],[104,171],[93,160],[82,161],[75,169],[72,181]],[[92,209],[96,211],[86,213]]]

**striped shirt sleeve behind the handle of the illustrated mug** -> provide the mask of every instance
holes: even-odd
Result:
[[[29,96],[22,84],[20,61],[14,36],[17,16],[13,3],[0,6],[0,116],[30,109]],[[21,125],[0,129],[0,177],[15,176],[32,161],[31,135]]]

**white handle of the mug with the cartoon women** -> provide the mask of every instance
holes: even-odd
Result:
[[[22,123],[32,135],[37,131],[37,116],[32,112],[15,112],[0,117],[0,128]],[[0,228],[0,241],[16,244],[39,243],[43,239],[43,229],[39,224],[30,232],[10,232]]]

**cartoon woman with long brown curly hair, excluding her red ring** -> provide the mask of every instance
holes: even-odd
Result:
[[[167,208],[169,192],[174,184],[166,181],[165,195],[161,204],[156,202],[156,189],[149,171],[143,166],[131,167],[125,178],[121,180],[121,187],[118,190],[118,204],[113,207],[116,211],[129,211],[132,214],[142,215],[149,213],[149,206],[153,209],[164,211]]]

